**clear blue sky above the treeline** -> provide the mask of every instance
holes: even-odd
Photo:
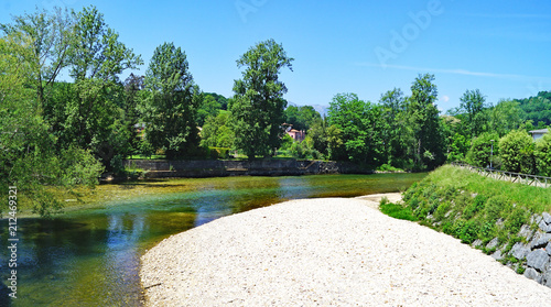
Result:
[[[144,74],[156,46],[174,42],[204,91],[231,96],[236,59],[274,39],[294,57],[281,79],[295,105],[328,105],[338,92],[377,102],[410,95],[419,74],[435,75],[439,109],[467,89],[487,102],[551,90],[551,2],[540,1],[86,1],[1,0],[0,22],[35,7],[95,4],[120,41],[141,54]],[[128,75],[129,72],[126,74]]]

